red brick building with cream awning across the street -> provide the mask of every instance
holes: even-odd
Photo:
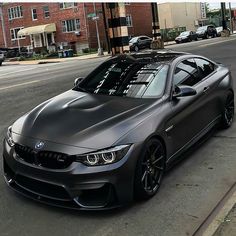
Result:
[[[97,12],[101,45],[106,47],[102,4],[66,3],[4,3],[4,22],[7,48],[27,47],[29,50],[56,50],[72,48],[96,48],[95,22],[88,18]],[[130,36],[148,35],[152,31],[150,3],[125,3],[128,32]],[[90,14],[91,15],[91,14]],[[109,9],[105,7],[106,20]],[[0,18],[1,20],[1,18]],[[0,48],[5,47],[0,24]]]

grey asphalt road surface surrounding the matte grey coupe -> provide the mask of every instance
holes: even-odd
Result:
[[[222,62],[236,78],[235,44],[233,37],[168,48]],[[0,67],[0,141],[19,116],[70,89],[74,78],[85,76],[103,60]],[[75,212],[45,206],[13,193],[0,178],[0,235],[192,235],[236,180],[235,123],[229,130],[214,132],[169,171],[155,197],[122,209]]]

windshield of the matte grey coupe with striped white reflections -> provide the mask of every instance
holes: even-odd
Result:
[[[88,75],[77,91],[147,98],[162,95],[169,66],[160,63],[105,62]]]

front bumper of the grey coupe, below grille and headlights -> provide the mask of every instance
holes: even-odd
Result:
[[[133,200],[138,146],[132,145],[122,160],[111,165],[72,163],[66,169],[49,169],[20,160],[14,147],[4,140],[4,177],[11,189],[49,205],[83,210],[115,208]]]

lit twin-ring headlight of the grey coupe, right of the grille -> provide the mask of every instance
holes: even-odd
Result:
[[[87,166],[108,165],[121,160],[128,152],[130,145],[120,145],[101,151],[76,156],[75,161]]]

